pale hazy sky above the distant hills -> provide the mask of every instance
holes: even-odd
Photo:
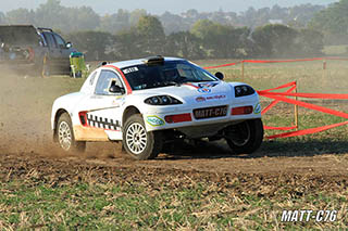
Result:
[[[36,9],[47,0],[0,0],[0,11],[8,12],[18,8]],[[5,2],[5,3],[4,3]],[[162,14],[165,11],[182,13],[189,9],[199,12],[212,12],[223,10],[227,12],[243,12],[249,7],[254,9],[271,8],[274,4],[279,7],[293,7],[298,4],[322,4],[327,5],[338,0],[61,0],[64,7],[91,7],[97,13],[115,13],[119,9],[133,11],[145,9],[151,14]]]

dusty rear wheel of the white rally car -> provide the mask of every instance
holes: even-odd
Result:
[[[57,140],[62,150],[67,153],[83,153],[86,150],[86,142],[76,141],[72,120],[67,113],[63,113],[57,123]]]

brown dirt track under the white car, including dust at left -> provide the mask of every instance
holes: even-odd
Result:
[[[336,181],[348,174],[348,154],[313,151],[303,155],[289,150],[270,153],[266,149],[269,142],[254,156],[231,156],[226,144],[221,142],[202,143],[198,147],[182,146],[172,154],[161,154],[156,161],[146,162],[129,159],[121,154],[120,144],[111,143],[91,143],[86,154],[67,156],[51,142],[50,110],[53,100],[61,94],[57,90],[60,86],[50,86],[50,80],[36,77],[2,75],[0,169],[3,176],[21,169],[26,169],[23,170],[26,172],[37,169],[45,174],[53,169],[72,174],[80,168],[112,168],[124,169],[130,175],[135,172],[138,178],[147,178],[151,172],[160,172],[163,178],[185,172],[185,176],[197,179],[199,176],[227,174],[238,178],[297,175],[306,179]]]

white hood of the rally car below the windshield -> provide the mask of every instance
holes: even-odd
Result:
[[[134,95],[154,97],[171,95],[186,103],[202,101],[231,100],[233,98],[232,86],[224,81],[187,82],[179,86],[153,88],[134,91]]]

